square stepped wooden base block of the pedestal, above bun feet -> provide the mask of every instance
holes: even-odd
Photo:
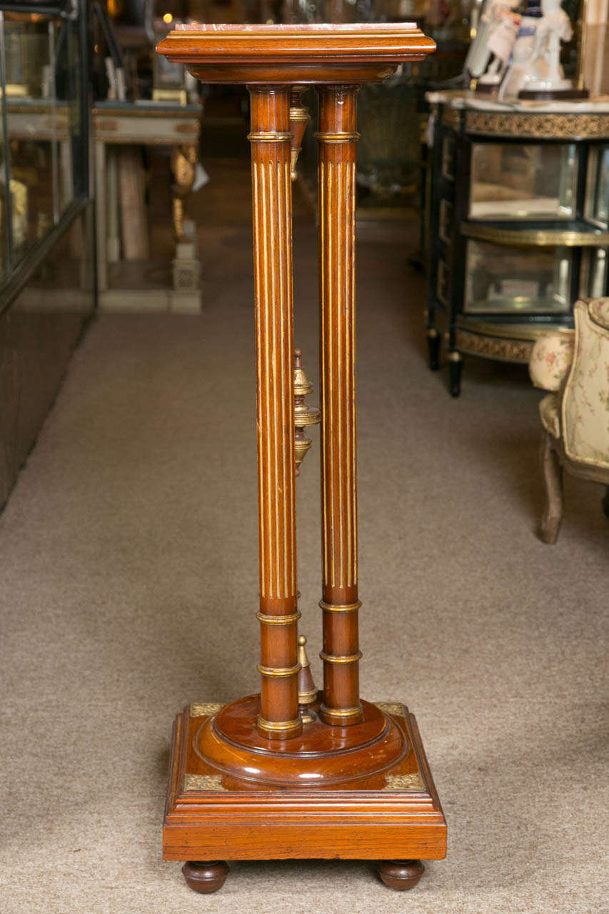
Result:
[[[409,740],[405,756],[374,789],[227,789],[195,749],[219,705],[176,718],[163,832],[166,860],[423,859],[446,855],[446,823],[416,721],[397,702],[378,707]]]

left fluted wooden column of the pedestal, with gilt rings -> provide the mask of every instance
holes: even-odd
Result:
[[[302,731],[294,467],[290,91],[250,87],[256,420],[260,541],[261,714],[272,739]]]

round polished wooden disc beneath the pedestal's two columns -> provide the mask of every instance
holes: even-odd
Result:
[[[193,748],[223,774],[262,788],[326,787],[369,780],[400,761],[409,741],[392,717],[362,701],[364,719],[351,727],[328,727],[315,718],[294,739],[265,739],[256,728],[260,696],[223,707],[199,728]],[[315,710],[318,703],[312,706]]]

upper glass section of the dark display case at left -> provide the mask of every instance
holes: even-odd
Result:
[[[28,6],[0,4],[4,276],[86,190],[78,7]]]

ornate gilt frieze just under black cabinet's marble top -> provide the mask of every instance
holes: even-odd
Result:
[[[609,137],[607,114],[523,114],[520,112],[465,112],[468,133],[495,136],[538,136],[542,139],[575,140]]]

